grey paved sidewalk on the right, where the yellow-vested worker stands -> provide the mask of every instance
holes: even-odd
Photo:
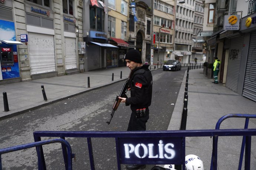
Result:
[[[178,94],[168,130],[179,130],[183,109],[187,72]],[[191,69],[188,76],[188,113],[186,130],[215,129],[219,118],[232,113],[256,114],[256,102],[226,88],[222,83],[203,75],[203,69]],[[229,118],[220,129],[243,129],[244,118]],[[256,128],[256,120],[250,119],[249,128]],[[195,154],[203,160],[204,169],[211,164],[212,139],[210,137],[187,137],[186,155]],[[237,169],[242,137],[219,137],[218,167],[220,170]],[[256,165],[256,140],[252,137],[251,165]],[[244,163],[244,159],[243,159]],[[253,167],[253,166],[251,166]],[[242,168],[243,169],[243,168]]]

